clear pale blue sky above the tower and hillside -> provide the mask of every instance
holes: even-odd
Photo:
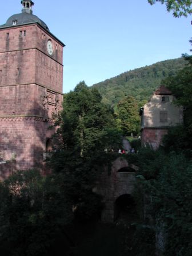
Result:
[[[174,18],[147,0],[33,0],[33,14],[65,43],[63,93],[138,67],[190,53],[191,17]],[[21,0],[1,1],[0,25],[21,13]]]

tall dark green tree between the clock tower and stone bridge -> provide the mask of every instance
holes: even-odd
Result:
[[[95,182],[104,167],[110,166],[119,149],[121,134],[115,126],[114,114],[101,102],[96,89],[80,82],[63,98],[63,111],[57,121],[60,126],[57,150],[50,165],[62,191],[74,209],[77,219],[91,219],[101,210],[101,197],[94,193]],[[59,144],[59,147],[58,147]]]

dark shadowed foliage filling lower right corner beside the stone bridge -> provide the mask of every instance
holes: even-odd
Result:
[[[172,150],[167,153],[162,149],[153,151],[150,148],[141,149],[138,154],[129,155],[129,158],[139,167],[138,181],[149,201],[145,205],[145,214],[152,216],[155,229],[159,229],[163,223],[166,231],[163,255],[191,255],[191,159],[181,152]],[[145,238],[141,241],[145,242]]]

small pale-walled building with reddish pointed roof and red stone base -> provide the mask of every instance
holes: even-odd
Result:
[[[183,108],[174,104],[174,95],[160,86],[140,110],[141,142],[158,149],[171,126],[183,123]]]

